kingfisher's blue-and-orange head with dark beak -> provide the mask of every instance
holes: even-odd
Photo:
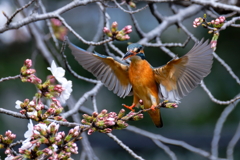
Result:
[[[131,58],[130,58],[131,57]],[[145,59],[143,46],[138,43],[132,43],[127,47],[127,53],[124,55],[123,60],[132,59]]]

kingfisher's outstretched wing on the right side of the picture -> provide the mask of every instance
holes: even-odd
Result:
[[[191,92],[210,73],[212,52],[208,41],[201,40],[183,57],[153,69],[159,84],[159,97],[177,102]]]

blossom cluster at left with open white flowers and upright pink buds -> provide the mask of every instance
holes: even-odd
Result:
[[[72,81],[68,81],[64,77],[65,70],[57,67],[53,61],[51,67],[48,67],[48,70],[52,72],[52,76],[49,76],[44,83],[41,83],[42,80],[34,75],[36,71],[30,67],[32,67],[32,61],[27,59],[21,68],[21,79],[23,82],[34,82],[38,92],[32,100],[25,99],[24,102],[17,100],[15,108],[21,109],[21,114],[35,121],[44,121],[50,116],[53,116],[55,120],[64,120],[59,114],[63,111],[62,104],[66,102],[72,92]],[[29,80],[32,77],[34,78]],[[60,84],[55,84],[55,79]],[[43,104],[42,98],[50,100],[49,107]],[[44,109],[47,109],[45,113],[43,113]]]

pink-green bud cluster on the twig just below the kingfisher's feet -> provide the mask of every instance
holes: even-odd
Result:
[[[128,126],[126,121],[133,120],[138,121],[143,119],[143,114],[136,114],[130,112],[125,115],[125,110],[121,109],[117,114],[115,112],[109,112],[104,109],[100,113],[93,112],[90,116],[88,114],[83,115],[82,124],[89,125],[88,135],[98,131],[101,133],[111,133],[113,129],[123,129]]]

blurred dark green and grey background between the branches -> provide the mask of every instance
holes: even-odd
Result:
[[[27,2],[27,1],[26,1]],[[43,4],[46,6],[46,10],[53,11],[58,9],[70,1],[47,1],[43,0]],[[111,3],[110,3],[111,4]],[[146,5],[146,3],[136,3],[138,8]],[[163,16],[173,15],[169,5],[167,3],[157,4],[158,11]],[[180,7],[180,6],[177,6]],[[0,11],[4,11],[7,15],[11,15],[16,9],[15,1],[0,0]],[[181,8],[181,7],[180,7]],[[119,29],[126,25],[133,25],[133,22],[128,13],[124,13],[118,8],[107,8],[106,12],[110,16],[110,24],[117,21]],[[198,39],[211,39],[211,35],[207,33],[208,30],[203,27],[193,28],[192,22],[197,17],[202,17],[205,12],[199,12],[196,15],[189,17],[183,21],[186,28]],[[62,16],[66,22],[85,40],[91,41],[98,29],[100,21],[100,11],[96,4],[89,4],[86,6],[76,7],[64,13]],[[149,32],[154,29],[158,22],[152,16],[149,8],[144,9],[141,12],[134,14],[139,26],[144,32]],[[13,21],[19,21],[23,17],[17,16]],[[208,18],[210,21],[212,18]],[[6,23],[6,18],[3,14],[0,14],[0,26]],[[49,30],[44,21],[36,23],[38,29],[41,30],[45,38],[50,37]],[[128,41],[118,42],[114,41],[122,52],[126,52],[128,42],[138,42],[140,40],[133,27],[133,32],[129,34],[130,39]],[[228,27],[226,30],[220,32],[220,38],[216,53],[221,57],[233,70],[233,72],[240,77],[240,41],[239,41],[240,29]],[[68,32],[69,39],[75,45],[87,49],[89,46],[79,41],[73,34]],[[163,43],[175,42],[183,43],[187,39],[187,35],[183,30],[178,29],[176,25],[172,25],[161,35]],[[60,41],[59,41],[60,42]],[[53,56],[57,59],[59,65],[63,65],[61,55],[54,46],[52,40],[49,39],[49,50],[52,51]],[[61,42],[60,42],[61,44]],[[179,57],[186,54],[194,45],[193,41],[190,41],[186,47],[174,47],[169,48],[172,52]],[[37,71],[37,76],[43,81],[46,76],[50,74],[47,70],[49,64],[47,60],[42,56],[41,52],[36,49],[36,42],[27,27],[21,27],[18,30],[10,30],[0,34],[0,78],[7,76],[14,76],[20,73],[20,68],[23,65],[25,59],[32,59],[34,62],[34,68]],[[103,45],[97,46],[95,49],[100,54],[105,54]],[[113,50],[112,53],[117,55]],[[84,70],[73,58],[70,50],[67,48],[65,51],[67,59],[72,69],[79,75],[93,78],[95,77]],[[158,67],[166,64],[171,57],[164,53],[159,48],[145,47],[145,54],[147,60],[154,67]],[[78,100],[85,92],[89,91],[94,85],[87,83],[83,80],[76,79],[69,72],[66,72],[68,80],[73,82],[72,96]],[[204,82],[215,98],[219,100],[230,100],[239,94],[239,84],[233,79],[229,72],[216,60],[214,60],[212,72],[204,79]],[[1,108],[9,109],[18,112],[15,109],[15,101],[28,98],[31,99],[36,93],[36,88],[33,84],[22,83],[20,79],[9,80],[0,83],[0,105]],[[97,107],[98,110],[107,109],[109,112],[119,112],[122,108],[122,103],[130,105],[132,103],[132,97],[126,97],[121,99],[107,88],[102,87],[97,95]],[[91,100],[88,99],[84,106],[93,109]],[[141,121],[129,122],[129,124],[139,127],[141,129],[160,134],[167,138],[184,141],[190,145],[201,148],[210,152],[211,141],[213,138],[213,131],[216,122],[221,115],[226,105],[218,105],[210,100],[205,91],[199,86],[189,95],[184,97],[176,109],[162,109],[162,118],[164,122],[163,128],[156,128],[149,115],[144,114],[144,119]],[[224,128],[221,133],[219,142],[219,155],[220,157],[226,157],[226,147],[229,141],[232,139],[240,120],[240,108],[239,104],[235,107],[234,111],[227,117],[224,123]],[[67,107],[66,107],[67,110]],[[72,119],[68,119],[71,121]],[[26,119],[17,119],[5,114],[0,116],[0,134],[4,134],[6,130],[11,130],[17,134],[17,139],[24,139],[23,134],[27,130]],[[62,127],[63,130],[68,131],[69,128]],[[157,159],[170,159],[166,153],[158,148],[154,142],[144,136],[132,133],[127,130],[116,130],[113,134],[118,136],[127,146],[129,146],[134,152],[142,156],[145,159],[157,160]],[[125,150],[123,150],[117,143],[110,139],[105,134],[94,133],[88,136],[91,146],[99,159],[133,159]],[[178,159],[185,160],[202,160],[207,159],[198,154],[189,152],[188,150],[168,145],[170,149],[176,154]],[[235,148],[234,158],[240,159],[240,143],[238,142]],[[81,151],[81,145],[79,144],[79,153]],[[1,157],[4,157],[1,150]],[[75,155],[74,159],[79,159],[79,155]]]

